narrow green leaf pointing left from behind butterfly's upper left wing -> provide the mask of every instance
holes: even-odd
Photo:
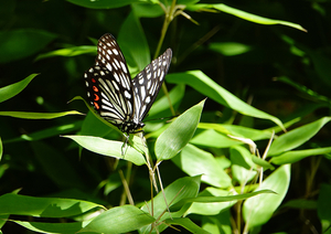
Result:
[[[51,51],[49,53],[40,54],[40,55],[38,55],[35,61],[43,60],[46,57],[54,57],[54,56],[72,57],[72,56],[77,56],[77,55],[82,55],[82,54],[96,54],[96,53],[97,53],[96,46],[82,45],[82,46],[60,49],[56,51]]]

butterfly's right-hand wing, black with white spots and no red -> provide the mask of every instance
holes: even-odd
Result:
[[[141,121],[157,98],[172,57],[171,49],[153,60],[134,79],[135,118]]]

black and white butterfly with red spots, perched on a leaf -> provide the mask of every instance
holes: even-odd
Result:
[[[172,51],[168,49],[131,79],[126,60],[111,34],[104,34],[97,46],[96,63],[84,74],[88,99],[104,119],[122,132],[138,132],[162,86]]]

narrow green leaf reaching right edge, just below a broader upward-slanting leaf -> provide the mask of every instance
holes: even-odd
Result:
[[[270,162],[275,164],[295,163],[310,156],[319,156],[331,152],[331,147],[318,148],[318,149],[306,149],[306,150],[291,150],[284,152],[280,156],[273,157]]]

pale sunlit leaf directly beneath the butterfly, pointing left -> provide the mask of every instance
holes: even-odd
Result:
[[[127,146],[126,155],[121,155],[121,148],[124,142],[115,141],[115,140],[106,140],[99,137],[90,137],[90,136],[63,136],[76,141],[83,148],[103,155],[109,156],[118,159],[125,159],[127,161],[131,161],[137,166],[145,164],[143,156],[138,152],[135,148]]]

